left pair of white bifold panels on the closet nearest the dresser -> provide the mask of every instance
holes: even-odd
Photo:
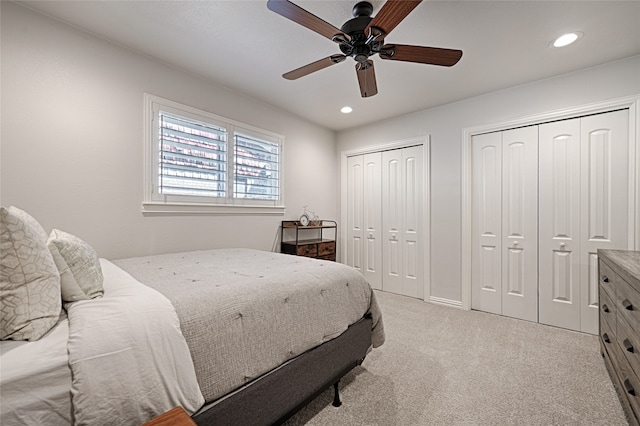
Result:
[[[538,129],[473,138],[472,309],[538,320]]]

